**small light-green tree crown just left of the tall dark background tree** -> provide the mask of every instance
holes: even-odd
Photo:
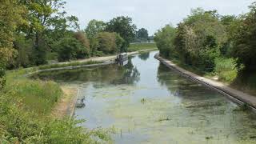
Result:
[[[86,27],[86,36],[89,39],[95,38],[98,33],[105,30],[106,23],[102,21],[97,21],[95,19],[91,20]]]

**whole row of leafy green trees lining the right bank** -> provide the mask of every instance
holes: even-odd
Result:
[[[241,70],[256,70],[256,3],[239,16],[220,15],[201,8],[178,24],[155,34],[160,54],[232,82]]]

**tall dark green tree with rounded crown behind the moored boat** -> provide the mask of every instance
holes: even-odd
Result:
[[[106,23],[106,31],[118,33],[125,40],[123,51],[127,50],[130,42],[135,38],[135,30],[136,26],[129,17],[113,18],[110,22]]]

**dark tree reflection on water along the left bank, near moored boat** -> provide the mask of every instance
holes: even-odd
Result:
[[[42,72],[32,78],[54,80],[56,82],[84,83],[97,82],[104,84],[134,84],[138,82],[140,74],[129,58],[126,66],[109,65],[81,68],[75,70],[56,70]]]

